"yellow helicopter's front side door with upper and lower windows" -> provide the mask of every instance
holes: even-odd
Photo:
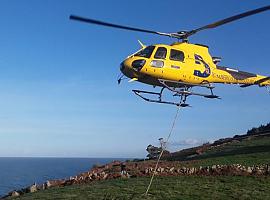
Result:
[[[150,63],[151,66],[150,70],[155,77],[163,78],[163,67],[166,56],[167,56],[167,48],[158,47],[155,52],[154,58]]]

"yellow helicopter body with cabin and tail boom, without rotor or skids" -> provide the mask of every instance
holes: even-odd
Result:
[[[162,86],[160,79],[188,84],[252,85],[266,78],[217,66],[207,46],[186,42],[142,46],[140,51],[128,56],[121,63],[120,69],[125,76],[153,86]],[[266,85],[270,85],[269,80],[259,84],[259,86]]]

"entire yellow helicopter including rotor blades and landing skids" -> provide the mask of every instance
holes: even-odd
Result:
[[[160,92],[142,90],[133,90],[133,92],[149,102],[187,107],[189,104],[186,103],[186,100],[187,97],[191,95],[219,99],[220,97],[214,95],[213,93],[214,83],[238,84],[240,87],[258,85],[260,87],[267,87],[269,90],[269,76],[261,76],[219,66],[218,63],[220,62],[221,58],[212,57],[209,54],[208,47],[206,45],[191,44],[188,42],[188,37],[198,33],[199,31],[216,28],[241,18],[267,11],[269,9],[270,6],[261,7],[219,20],[191,31],[179,31],[176,33],[163,33],[134,28],[76,15],[70,15],[70,19],[112,28],[157,34],[178,39],[178,42],[171,45],[155,44],[145,46],[139,41],[141,49],[128,56],[121,63],[120,70],[123,75],[118,79],[118,83],[120,84],[123,77],[126,76],[130,78],[129,82],[139,81],[153,85],[154,87],[159,86],[161,87]],[[195,87],[206,88],[209,90],[209,93],[203,94],[194,92],[192,89]],[[180,101],[164,101],[162,98],[164,89],[168,89],[169,91],[173,92],[173,96],[179,96]]]

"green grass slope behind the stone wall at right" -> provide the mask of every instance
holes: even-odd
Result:
[[[180,157],[181,158],[181,157]],[[187,166],[209,166],[215,164],[242,164],[246,166],[270,164],[270,137],[245,139],[207,150],[204,154],[185,160]]]

